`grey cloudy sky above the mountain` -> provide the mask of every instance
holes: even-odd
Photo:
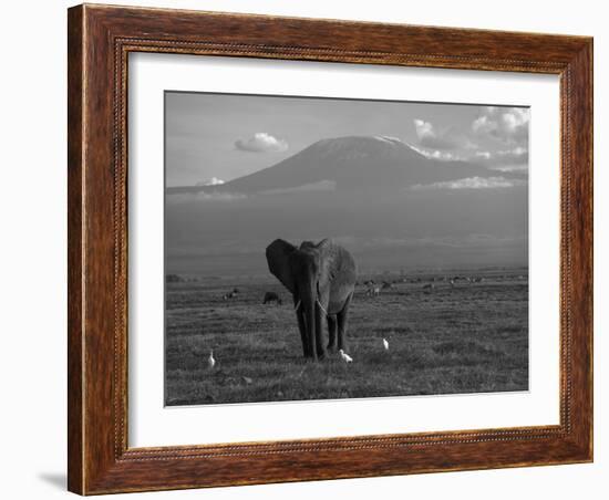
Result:
[[[166,92],[166,184],[221,184],[350,135],[396,137],[441,160],[526,170],[528,121],[526,107]]]

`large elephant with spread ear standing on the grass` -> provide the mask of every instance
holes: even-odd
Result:
[[[338,348],[347,351],[349,305],[357,281],[353,256],[330,239],[317,244],[303,241],[299,248],[277,239],[266,256],[269,271],[292,294],[303,356],[326,357],[324,319],[328,351],[337,350],[337,340]]]

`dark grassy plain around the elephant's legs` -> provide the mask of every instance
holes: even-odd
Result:
[[[453,285],[448,279],[455,275],[471,280]],[[380,296],[357,287],[348,332],[351,364],[338,355],[319,363],[302,358],[291,296],[271,278],[167,283],[165,403],[528,388],[526,269],[368,275],[360,282],[367,279],[394,283]],[[234,298],[223,299],[234,289],[239,290]],[[264,305],[266,291],[279,293],[283,304]],[[214,369],[207,365],[210,350]]]

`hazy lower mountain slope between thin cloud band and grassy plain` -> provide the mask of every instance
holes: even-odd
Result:
[[[526,264],[527,188],[193,197],[167,205],[165,230],[175,273],[267,273],[265,248],[276,238],[336,238],[364,271]]]

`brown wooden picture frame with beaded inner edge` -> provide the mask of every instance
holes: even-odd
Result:
[[[592,460],[592,39],[89,4],[69,10],[68,38],[70,491],[94,494]],[[130,448],[131,52],[559,75],[560,424]]]

